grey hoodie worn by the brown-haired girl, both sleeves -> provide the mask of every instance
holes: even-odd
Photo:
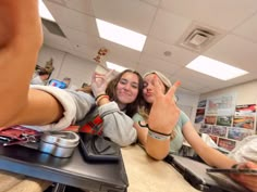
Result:
[[[82,120],[95,106],[95,98],[82,91],[62,90],[51,86],[30,86],[52,94],[63,106],[63,117],[50,125],[25,126],[38,131],[62,130],[76,121]],[[110,102],[98,108],[100,117],[103,119],[103,136],[110,138],[121,146],[126,146],[136,141],[136,129],[134,121],[122,112],[115,102]]]

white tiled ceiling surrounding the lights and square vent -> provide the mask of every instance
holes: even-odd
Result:
[[[100,48],[109,50],[105,60],[144,74],[157,69],[171,81],[180,79],[180,90],[206,93],[257,79],[256,0],[44,0],[66,38],[44,27],[45,44],[94,61]],[[147,36],[142,52],[99,37],[95,17]],[[193,28],[217,34],[203,50],[181,46]],[[163,52],[170,51],[166,56]],[[198,55],[225,62],[249,74],[222,81],[185,68]]]

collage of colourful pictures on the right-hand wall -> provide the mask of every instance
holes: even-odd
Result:
[[[195,124],[218,146],[233,150],[244,138],[256,133],[256,104],[235,105],[233,94],[198,102]]]

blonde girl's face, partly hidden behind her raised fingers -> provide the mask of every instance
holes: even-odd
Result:
[[[144,88],[143,88],[143,97],[147,103],[154,103],[155,101],[155,89],[154,89],[154,78],[155,76],[158,78],[158,82],[161,86],[161,91],[166,92],[166,87],[160,80],[160,78],[156,74],[149,74],[144,77]]]

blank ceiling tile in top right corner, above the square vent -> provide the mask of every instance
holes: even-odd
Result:
[[[257,11],[257,1],[162,0],[161,8],[213,27],[231,30]]]

